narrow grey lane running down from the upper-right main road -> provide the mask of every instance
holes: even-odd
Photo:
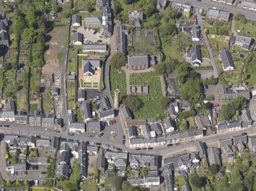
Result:
[[[211,49],[211,46],[209,46],[209,42],[208,42],[208,38],[206,37],[206,33],[203,32],[203,21],[202,21],[201,14],[199,14],[199,9],[198,8],[196,8],[196,18],[197,18],[198,24],[201,26],[201,32],[203,34],[203,39],[206,43],[206,47],[207,47],[207,50],[208,50],[208,53],[209,53],[209,56],[210,56],[210,62],[212,64],[214,78],[218,78],[219,77],[218,69],[215,65],[215,62],[214,62],[214,59],[213,59],[213,54],[212,54],[212,49]]]

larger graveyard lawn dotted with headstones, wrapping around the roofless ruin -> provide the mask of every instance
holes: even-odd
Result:
[[[162,91],[160,86],[160,76],[154,72],[131,74],[130,84],[149,85],[149,94],[138,94],[142,100],[142,107],[134,112],[135,119],[164,116],[164,110],[160,108],[160,98]]]

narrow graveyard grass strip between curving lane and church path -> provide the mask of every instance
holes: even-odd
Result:
[[[110,90],[112,97],[114,97],[115,89],[120,91],[119,100],[122,100],[122,97],[126,96],[125,72],[122,69],[118,72],[115,68],[110,67]]]

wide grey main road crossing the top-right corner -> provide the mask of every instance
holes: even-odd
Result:
[[[203,8],[208,10],[209,8],[215,7],[220,10],[229,11],[232,14],[241,13],[245,15],[245,18],[248,18],[252,21],[256,21],[256,11],[249,11],[241,7],[235,7],[233,5],[225,5],[218,2],[212,2],[209,0],[202,0],[202,2],[196,2],[196,0],[169,0],[170,2],[180,2],[180,3],[189,3],[194,8]]]

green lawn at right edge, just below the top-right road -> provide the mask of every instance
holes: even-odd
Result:
[[[255,24],[256,22],[250,20],[248,20],[246,24],[242,24],[241,21],[235,21],[235,31],[245,37],[256,37]],[[238,32],[238,30],[240,30],[240,32]]]

